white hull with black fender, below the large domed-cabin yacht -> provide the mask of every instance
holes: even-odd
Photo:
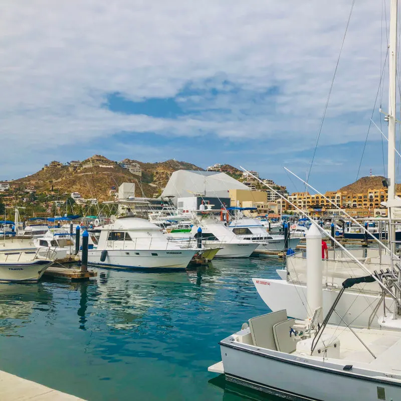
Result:
[[[89,250],[88,263],[126,269],[185,269],[196,250],[107,250],[101,261],[102,250]]]

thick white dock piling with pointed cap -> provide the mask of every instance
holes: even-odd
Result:
[[[323,306],[322,277],[322,235],[312,224],[306,234],[306,300],[310,317],[316,308]]]

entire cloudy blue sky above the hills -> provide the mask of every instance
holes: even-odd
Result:
[[[351,5],[4,0],[0,178],[93,154],[229,163],[290,191],[304,186],[283,167],[321,191],[383,175],[386,141],[367,136],[372,116],[387,129],[378,0],[355,2],[311,166]]]

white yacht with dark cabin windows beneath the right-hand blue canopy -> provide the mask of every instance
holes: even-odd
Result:
[[[268,233],[257,219],[236,219],[229,227],[238,238],[258,243],[258,251],[283,251],[285,248],[284,235]],[[299,241],[300,238],[290,236],[288,248],[295,249]]]

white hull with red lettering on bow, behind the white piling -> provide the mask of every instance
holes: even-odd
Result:
[[[306,285],[293,284],[285,280],[253,278],[254,285],[263,302],[272,310],[287,310],[287,315],[306,319],[308,313],[306,305]],[[338,289],[323,288],[323,311],[326,313],[334,303],[339,292]],[[344,291],[336,311],[343,317],[344,321],[353,327],[366,327],[374,307],[380,300],[379,294],[361,294],[360,291]],[[386,299],[386,306],[392,310],[393,301]],[[352,305],[352,308],[350,308]],[[379,310],[382,308],[380,307]],[[378,314],[380,312],[377,312]],[[372,319],[372,328],[379,328],[378,315]],[[331,324],[344,324],[341,319],[333,313],[330,319]]]

